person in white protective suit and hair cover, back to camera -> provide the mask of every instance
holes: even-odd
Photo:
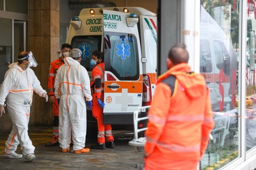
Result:
[[[86,105],[91,107],[91,90],[89,75],[85,67],[80,65],[81,50],[74,48],[70,57],[64,58],[55,78],[55,97],[59,99],[59,146],[61,152],[70,150],[71,127],[75,154],[87,153],[86,136]]]

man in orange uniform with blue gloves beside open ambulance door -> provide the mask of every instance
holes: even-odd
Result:
[[[95,50],[92,52],[91,66],[91,88],[92,88],[92,116],[96,118],[98,124],[98,143],[91,146],[91,149],[105,150],[115,148],[114,138],[112,135],[111,124],[103,124],[103,107],[104,107],[104,56],[102,52]],[[106,136],[106,144],[105,144]]]

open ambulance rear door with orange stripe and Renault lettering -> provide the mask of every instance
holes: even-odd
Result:
[[[141,45],[135,15],[103,11],[104,124],[133,124],[142,103]]]

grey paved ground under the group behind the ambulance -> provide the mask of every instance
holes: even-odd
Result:
[[[29,137],[35,146],[36,159],[28,163],[25,158],[4,158],[5,141],[10,132],[0,132],[0,169],[137,169],[143,163],[143,150],[128,145],[131,131],[113,131],[115,148],[91,150],[85,154],[63,153],[59,146],[45,147],[51,139],[51,127],[29,127]],[[87,136],[85,148],[89,148],[96,137]],[[72,147],[70,148],[72,150]],[[17,150],[21,154],[20,146]]]

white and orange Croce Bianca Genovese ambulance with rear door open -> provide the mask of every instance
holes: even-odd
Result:
[[[83,9],[70,21],[66,43],[83,52],[81,65],[89,75],[91,52],[104,52],[104,124],[133,124],[135,109],[150,105],[156,88],[156,26],[156,14],[142,7]]]

